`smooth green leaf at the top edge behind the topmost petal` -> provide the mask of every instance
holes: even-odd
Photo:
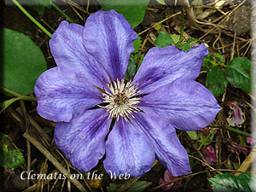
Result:
[[[123,0],[98,0],[98,2],[101,3],[102,10],[114,9],[124,15],[134,28],[143,21],[149,0],[129,0],[125,3]]]

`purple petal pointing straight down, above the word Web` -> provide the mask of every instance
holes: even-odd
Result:
[[[135,122],[119,119],[106,143],[104,167],[108,173],[140,177],[154,164],[154,150]]]

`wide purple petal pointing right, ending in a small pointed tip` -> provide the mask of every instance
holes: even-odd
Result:
[[[165,117],[175,128],[185,131],[206,127],[221,109],[206,87],[189,79],[177,79],[154,90],[143,97],[139,108]]]

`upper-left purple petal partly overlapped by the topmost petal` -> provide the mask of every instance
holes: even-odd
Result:
[[[49,40],[49,48],[57,66],[75,68],[95,85],[100,86],[104,84],[103,79],[108,80],[108,73],[87,53],[83,33],[84,26],[61,21]]]

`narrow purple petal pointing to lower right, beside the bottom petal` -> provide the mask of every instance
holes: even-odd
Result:
[[[136,113],[137,124],[153,144],[154,152],[160,163],[173,176],[189,174],[189,157],[179,142],[176,131],[167,119],[154,113]]]

